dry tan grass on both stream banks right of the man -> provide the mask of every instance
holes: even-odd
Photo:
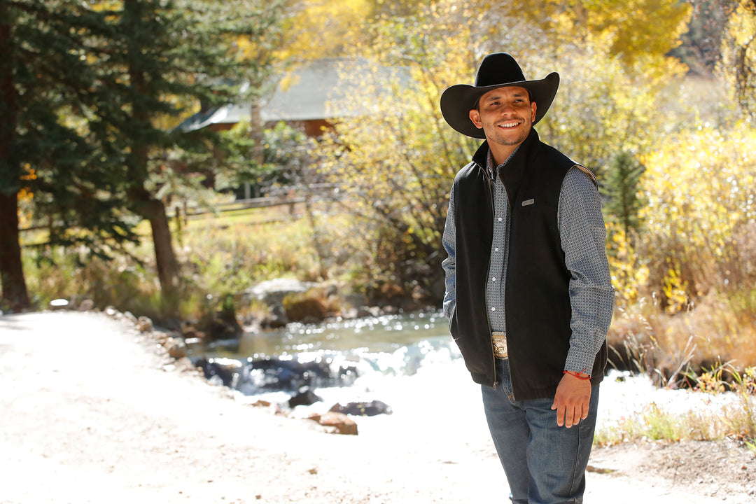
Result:
[[[750,299],[712,292],[671,315],[642,298],[618,311],[607,335],[615,366],[645,374],[659,387],[735,394],[737,400],[683,414],[651,404],[600,428],[595,443],[736,438],[756,453],[756,311]]]

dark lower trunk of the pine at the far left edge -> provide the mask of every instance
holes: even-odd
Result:
[[[0,283],[5,305],[14,311],[29,308],[18,240],[18,196],[3,191],[0,191]]]

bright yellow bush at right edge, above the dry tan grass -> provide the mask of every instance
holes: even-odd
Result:
[[[756,281],[756,131],[702,124],[644,156],[645,243],[652,285],[683,294],[752,289]],[[672,296],[674,294],[674,296]]]

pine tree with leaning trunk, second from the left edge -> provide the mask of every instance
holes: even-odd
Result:
[[[150,222],[163,313],[175,315],[180,293],[178,261],[161,199],[150,190],[150,174],[163,153],[178,147],[213,150],[212,141],[164,128],[187,113],[179,104],[226,103],[250,82],[259,89],[270,72],[265,60],[243,60],[240,38],[264,46],[274,40],[279,7],[265,0],[123,0],[107,11],[110,33],[92,66],[101,75],[104,101],[97,110],[101,145],[119,153],[125,166],[129,208]],[[214,141],[218,141],[215,137]]]

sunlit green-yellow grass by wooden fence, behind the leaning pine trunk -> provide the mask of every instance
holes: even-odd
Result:
[[[172,220],[175,252],[181,264],[184,295],[181,315],[200,318],[228,295],[237,300],[241,317],[259,314],[254,301],[241,302],[250,286],[276,277],[305,281],[327,278],[346,288],[350,271],[359,266],[359,255],[350,253],[356,240],[344,236],[343,215],[330,215],[326,204],[316,207],[319,245],[329,251],[321,258],[316,249],[311,221],[302,205],[262,209],[234,209],[209,213],[178,225]],[[149,224],[138,227],[140,246],[118,252],[113,261],[86,257],[85,250],[26,247],[24,271],[33,303],[45,308],[55,298],[74,304],[89,298],[95,305],[118,307],[148,317],[159,317],[160,284],[154,266]],[[40,231],[27,233],[27,245],[39,243]],[[347,246],[349,245],[349,246]]]

